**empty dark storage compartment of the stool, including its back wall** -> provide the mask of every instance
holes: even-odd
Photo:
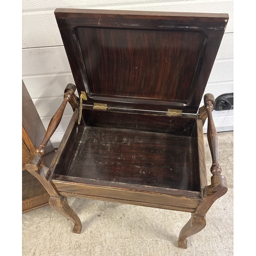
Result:
[[[83,110],[54,174],[200,191],[195,118]]]

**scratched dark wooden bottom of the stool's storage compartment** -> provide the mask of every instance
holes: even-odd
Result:
[[[196,143],[195,137],[77,126],[54,173],[200,191]]]

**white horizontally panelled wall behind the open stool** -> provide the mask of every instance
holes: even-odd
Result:
[[[228,13],[229,22],[205,93],[212,93],[217,98],[223,93],[233,92],[233,1],[133,0],[130,4],[127,2],[23,0],[23,80],[46,129],[62,102],[67,84],[74,83],[54,16],[56,8]],[[233,110],[214,111],[213,115],[217,131],[233,130]],[[61,123],[51,138],[53,143],[60,142],[71,116],[72,109],[67,105]]]

